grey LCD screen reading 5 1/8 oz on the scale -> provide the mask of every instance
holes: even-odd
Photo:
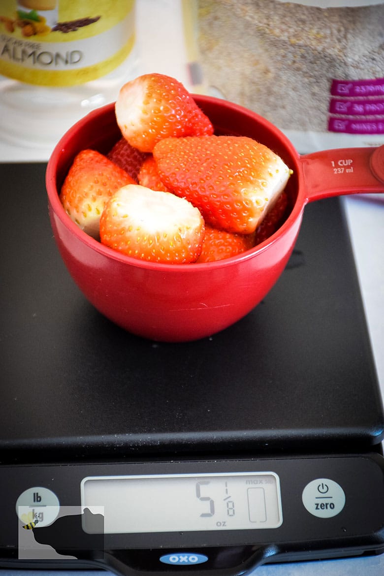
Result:
[[[283,521],[273,472],[89,476],[81,505],[104,509],[105,534],[265,529]]]

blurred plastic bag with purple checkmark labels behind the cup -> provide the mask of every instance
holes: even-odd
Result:
[[[205,91],[300,153],[384,143],[384,2],[197,0]]]

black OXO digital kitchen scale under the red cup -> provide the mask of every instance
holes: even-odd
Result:
[[[157,343],[74,285],[44,173],[0,165],[0,567],[225,576],[382,553],[384,415],[340,200],[306,207],[248,316]]]

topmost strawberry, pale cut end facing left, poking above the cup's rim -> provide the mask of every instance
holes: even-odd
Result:
[[[142,152],[151,152],[162,138],[213,134],[188,90],[164,74],[143,74],[124,84],[115,111],[123,137]]]

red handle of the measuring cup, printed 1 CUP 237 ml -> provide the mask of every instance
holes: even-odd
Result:
[[[384,192],[384,145],[322,150],[305,154],[301,162],[307,202]]]

